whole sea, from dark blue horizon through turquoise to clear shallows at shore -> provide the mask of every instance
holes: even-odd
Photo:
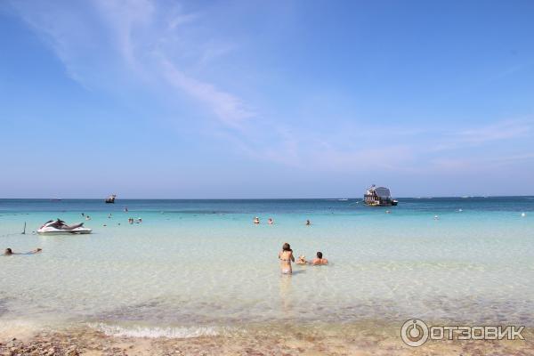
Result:
[[[0,333],[84,323],[186,337],[277,320],[409,318],[534,325],[534,197],[400,200],[0,199],[0,248],[44,249],[0,257]],[[93,234],[32,233],[56,217]],[[280,276],[284,242],[331,265]]]

